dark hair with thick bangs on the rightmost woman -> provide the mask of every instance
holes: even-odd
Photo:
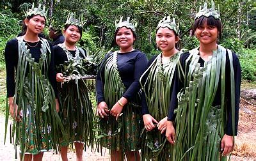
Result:
[[[204,23],[206,22],[207,25],[209,26],[215,26],[218,29],[218,33],[219,33],[219,38],[221,38],[221,33],[222,33],[222,24],[220,22],[220,19],[215,19],[214,17],[210,16],[210,17],[199,17],[198,19],[195,20],[194,25],[193,25],[193,29],[192,29],[192,36],[195,35],[195,31],[196,28],[199,26],[204,25]]]

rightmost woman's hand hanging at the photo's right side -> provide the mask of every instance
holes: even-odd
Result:
[[[233,136],[229,136],[227,134],[225,134],[222,139],[221,139],[221,151],[222,155],[228,155],[229,153],[231,153],[231,151],[234,149],[234,138]]]

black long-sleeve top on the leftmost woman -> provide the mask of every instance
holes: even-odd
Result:
[[[40,56],[41,56],[41,41],[35,43],[30,43],[28,45],[28,49],[30,50],[31,57],[35,58],[35,62],[38,63]],[[49,65],[49,72],[47,73],[49,76],[49,81],[52,84],[54,89],[54,93],[57,93],[57,86],[56,86],[56,72],[54,70],[54,52],[52,52],[52,45],[50,44],[51,48],[51,63]],[[36,47],[33,47],[35,46]],[[4,50],[4,57],[5,57],[5,64],[6,64],[6,87],[7,87],[7,97],[12,97],[15,94],[15,71],[17,70],[18,58],[19,58],[19,49],[18,49],[18,40],[17,38],[13,38],[12,40],[6,43],[6,47]],[[19,82],[17,82],[19,83]]]

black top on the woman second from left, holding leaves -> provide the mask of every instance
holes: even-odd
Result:
[[[61,64],[63,65],[63,63],[65,61],[68,61],[67,54],[61,47],[59,47],[58,45],[55,45],[53,47],[53,51],[54,51],[54,65],[55,66],[58,66]],[[68,51],[70,52],[70,54],[72,54],[72,56],[76,55],[76,50],[68,50]],[[85,52],[85,50],[84,50],[84,52]],[[79,52],[79,57],[85,58],[81,52]]]

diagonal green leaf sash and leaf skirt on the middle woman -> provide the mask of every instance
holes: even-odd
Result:
[[[102,67],[102,70],[104,70],[105,73],[104,98],[106,104],[108,104],[108,107],[111,109],[111,107],[116,104],[116,102],[122,97],[123,93],[125,92],[125,86],[121,80],[117,68],[117,52],[109,52],[108,58],[102,61]],[[138,95],[136,95],[135,97],[137,98]],[[125,118],[132,119],[132,117],[134,117],[134,114],[132,114],[133,107],[137,108],[139,106],[136,105],[136,102],[129,102],[127,105],[125,105],[124,110],[122,111],[124,114],[120,115],[117,121],[115,117],[111,115],[109,115],[107,118],[99,118],[99,121],[97,122],[99,128],[95,130],[99,132],[99,136],[97,137],[97,139],[99,139],[100,146],[107,146],[107,148],[110,148],[112,150],[124,150],[122,148],[125,147],[125,138],[121,138],[121,135],[122,137],[125,137],[125,135],[121,134],[120,132],[125,132],[125,128],[131,128],[123,127],[123,125],[124,121],[127,121],[125,120]],[[124,153],[122,153],[122,158],[124,157]]]

